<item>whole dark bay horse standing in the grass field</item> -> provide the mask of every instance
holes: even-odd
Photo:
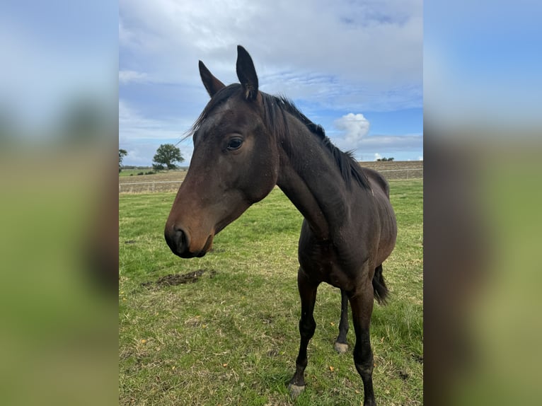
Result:
[[[278,185],[304,216],[297,276],[301,344],[290,393],[295,397],[305,387],[316,289],[327,282],[342,298],[335,349],[347,350],[350,301],[354,364],[364,405],[375,405],[369,324],[374,298],[384,302],[388,294],[382,262],[397,234],[388,183],[333,146],[292,102],[258,91],[253,61],[241,46],[236,68],[241,83],[225,86],[200,61],[211,100],[192,128],[194,153],[166,222],[166,241],[180,257],[202,257],[219,231]]]

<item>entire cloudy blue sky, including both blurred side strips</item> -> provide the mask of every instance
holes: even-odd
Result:
[[[237,81],[238,44],[263,91],[292,98],[364,160],[422,155],[422,99],[426,120],[449,134],[540,134],[535,0],[427,1],[423,21],[421,1],[409,0],[19,0],[1,9],[0,116],[47,139],[80,95],[113,115],[118,105],[126,163],[149,165],[159,144],[190,128],[208,100],[198,59]],[[188,158],[190,141],[181,148]]]

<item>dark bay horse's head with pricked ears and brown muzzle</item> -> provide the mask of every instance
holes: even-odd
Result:
[[[190,168],[164,230],[173,253],[183,258],[205,255],[215,234],[267,196],[279,166],[248,52],[238,47],[241,84],[224,86],[201,61],[200,75],[211,100],[194,126]]]

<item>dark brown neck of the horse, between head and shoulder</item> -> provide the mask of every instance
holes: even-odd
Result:
[[[280,149],[277,185],[309,222],[316,238],[329,240],[348,219],[345,180],[316,135],[300,122],[291,129],[289,146]]]

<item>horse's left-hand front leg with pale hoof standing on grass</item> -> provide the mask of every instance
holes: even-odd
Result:
[[[306,273],[299,268],[297,273],[297,287],[301,297],[301,320],[299,320],[299,354],[296,359],[296,372],[289,382],[288,388],[292,398],[296,398],[305,388],[305,368],[307,366],[307,346],[316,330],[316,321],[313,317],[314,303],[316,302],[316,290],[318,283],[309,280]]]

